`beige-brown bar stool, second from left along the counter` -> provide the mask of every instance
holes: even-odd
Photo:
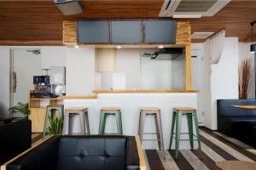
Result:
[[[80,124],[80,130],[81,134],[85,135],[90,134],[90,125],[89,125],[89,117],[88,117],[88,108],[83,107],[73,107],[68,108],[65,110],[65,117],[64,117],[64,126],[63,126],[63,134],[66,133],[68,129],[67,134],[73,133],[73,118],[74,116],[79,116],[79,124]],[[85,127],[86,125],[86,127]],[[87,132],[86,132],[87,129]]]

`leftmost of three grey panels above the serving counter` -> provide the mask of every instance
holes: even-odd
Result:
[[[80,43],[108,43],[108,20],[79,20],[78,41]]]

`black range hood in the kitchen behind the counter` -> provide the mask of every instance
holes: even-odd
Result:
[[[143,57],[150,57],[151,59],[177,59],[183,54],[183,48],[161,48],[154,53],[143,53]]]

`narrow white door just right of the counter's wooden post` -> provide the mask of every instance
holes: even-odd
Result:
[[[192,76],[192,89],[200,90],[197,94],[197,111],[198,122],[203,123],[203,99],[202,99],[202,71],[201,71],[202,50],[195,49],[191,51],[191,76]]]

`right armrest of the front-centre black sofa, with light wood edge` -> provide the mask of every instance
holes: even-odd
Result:
[[[127,170],[146,170],[142,145],[138,136],[127,137]]]

